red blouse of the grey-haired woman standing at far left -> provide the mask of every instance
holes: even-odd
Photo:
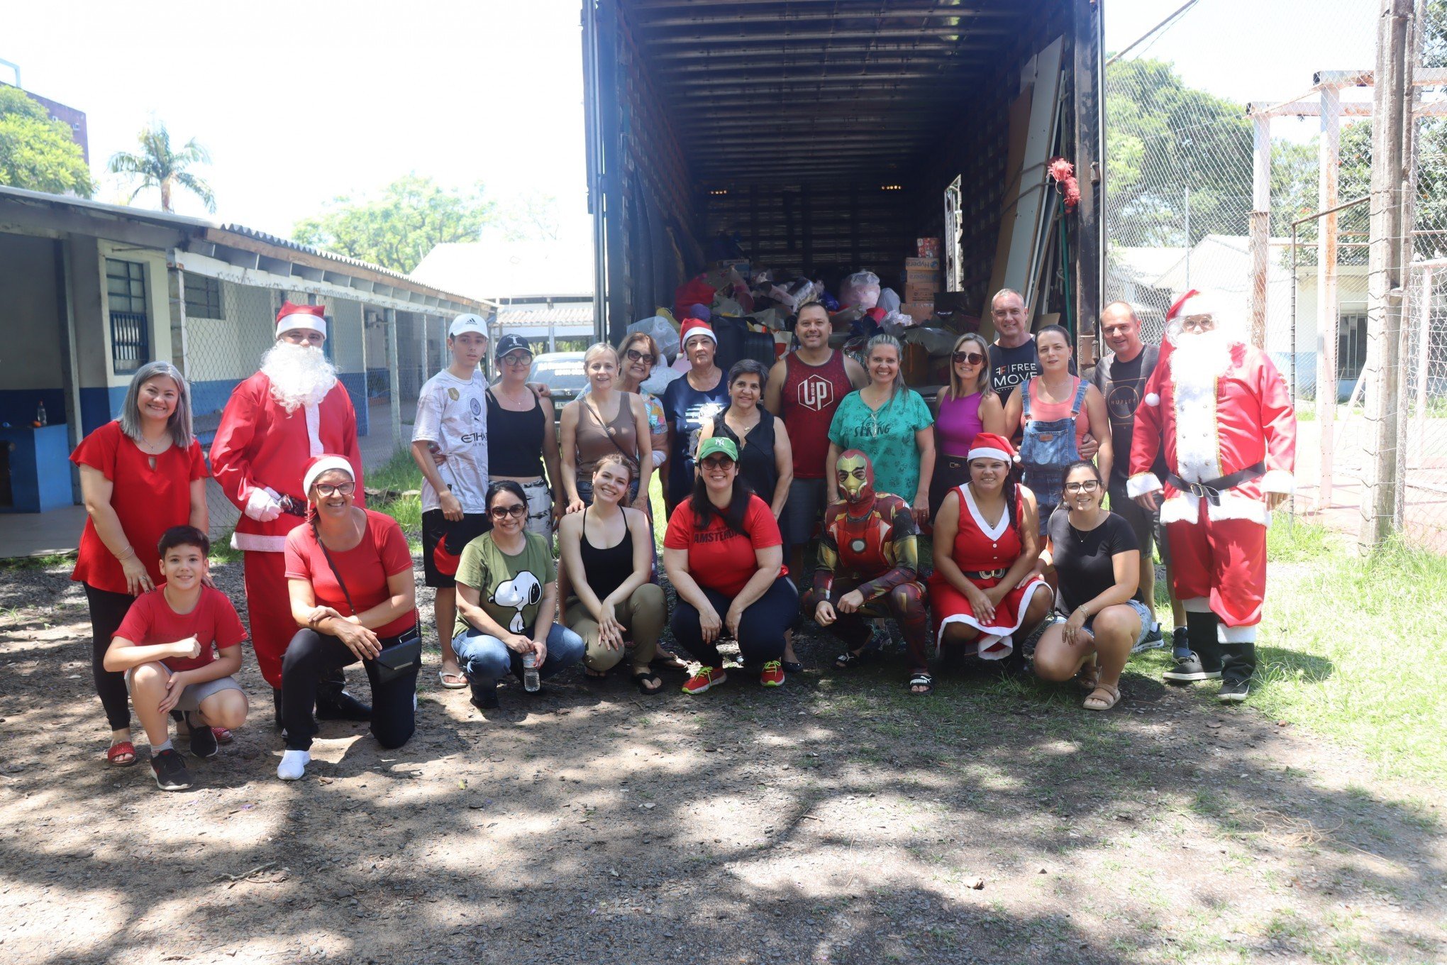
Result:
[[[171,446],[155,459],[152,469],[150,456],[120,431],[120,422],[106,422],[71,453],[72,463],[100,470],[114,485],[110,508],[116,511],[136,558],[146,564],[150,580],[161,586],[161,553],[156,550],[161,534],[191,522],[191,483],[211,473],[205,470],[201,443],[194,438],[188,449]],[[85,519],[71,579],[98,590],[126,592],[126,573],[100,541],[91,519]]]

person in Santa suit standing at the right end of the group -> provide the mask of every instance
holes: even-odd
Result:
[[[1292,489],[1297,414],[1270,357],[1221,328],[1213,298],[1187,292],[1166,323],[1136,409],[1126,492],[1160,506],[1187,612],[1191,654],[1165,679],[1220,680],[1220,700],[1239,703],[1256,670],[1268,512]],[[1150,472],[1162,446],[1163,480]]]

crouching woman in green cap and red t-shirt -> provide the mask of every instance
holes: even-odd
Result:
[[[731,438],[699,446],[693,495],[669,516],[663,564],[679,593],[673,638],[700,667],[684,693],[728,680],[719,639],[738,641],[745,667],[758,667],[765,687],[784,683],[784,632],[799,615],[799,592],[784,569],[783,537],[768,503],[738,472]]]

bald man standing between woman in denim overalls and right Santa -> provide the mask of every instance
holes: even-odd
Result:
[[[1107,480],[1110,509],[1116,515],[1123,516],[1136,534],[1136,543],[1140,545],[1140,590],[1137,598],[1153,612],[1156,571],[1155,566],[1152,566],[1152,545],[1156,543],[1160,512],[1156,511],[1152,514],[1127,496],[1126,477],[1130,470],[1130,434],[1136,424],[1136,407],[1140,405],[1143,386],[1150,373],[1155,372],[1160,352],[1156,346],[1147,346],[1140,340],[1140,320],[1136,317],[1134,310],[1123,301],[1111,302],[1100,313],[1100,333],[1111,350],[1095,363],[1095,373],[1091,381],[1100,389],[1101,395],[1106,396],[1106,411],[1110,414],[1110,437],[1117,447],[1116,462],[1110,467],[1110,479]],[[1158,463],[1160,463],[1156,467],[1156,475],[1159,476],[1160,470],[1165,469],[1165,463],[1163,460],[1158,460]],[[1166,544],[1163,540],[1159,543],[1160,556],[1166,557]],[[1171,560],[1166,558],[1166,586],[1171,586],[1169,567]],[[1175,596],[1171,598],[1171,609],[1176,622],[1172,644],[1178,651],[1189,651],[1191,648],[1185,644],[1185,612],[1181,611],[1181,603]],[[1175,641],[1179,642],[1176,644]],[[1165,641],[1160,638],[1160,626],[1155,625],[1149,629],[1146,638],[1136,645],[1136,651],[1155,650],[1158,647],[1165,647]]]

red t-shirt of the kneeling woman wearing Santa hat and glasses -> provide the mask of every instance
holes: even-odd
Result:
[[[336,573],[327,566],[327,554],[317,543],[310,524],[301,524],[287,534],[287,579],[307,580],[317,599],[317,606],[330,606],[343,616],[365,613],[378,603],[382,603],[392,593],[386,587],[386,579],[398,573],[411,571],[412,551],[407,547],[407,537],[396,519],[363,509],[366,514],[366,532],[362,541],[350,550],[331,550],[331,560],[341,573],[341,580],[347,584],[347,593],[357,609],[347,606],[347,593],[341,592]],[[417,624],[414,613],[402,613],[386,626],[376,626],[372,632],[378,637],[396,637]]]

